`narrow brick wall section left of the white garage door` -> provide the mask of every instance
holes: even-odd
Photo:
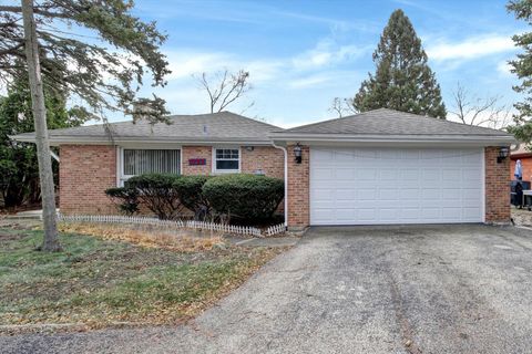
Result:
[[[288,228],[300,230],[310,223],[309,207],[309,148],[301,147],[303,160],[296,164],[294,146],[288,146]]]

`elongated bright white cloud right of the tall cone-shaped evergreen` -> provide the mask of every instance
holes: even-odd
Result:
[[[513,50],[510,35],[483,35],[460,42],[439,41],[427,46],[427,54],[434,61],[466,61]]]

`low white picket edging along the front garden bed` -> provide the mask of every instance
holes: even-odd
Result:
[[[274,236],[283,233],[286,230],[284,223],[272,226],[266,229],[265,235],[260,229],[248,226],[224,225],[207,221],[182,221],[182,220],[160,220],[157,218],[149,217],[126,217],[119,215],[62,215],[58,214],[58,221],[63,222],[104,222],[104,223],[136,223],[136,225],[153,225],[168,228],[186,228],[211,230],[227,233],[248,235],[254,237]]]

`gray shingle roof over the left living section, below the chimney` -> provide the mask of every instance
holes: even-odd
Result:
[[[172,142],[257,142],[267,143],[268,133],[282,128],[231,112],[200,115],[172,115],[172,124],[151,125],[146,121],[111,123],[113,139]],[[109,135],[103,124],[50,131],[50,142],[66,139],[99,140]],[[19,134],[14,139],[34,139],[34,133]]]

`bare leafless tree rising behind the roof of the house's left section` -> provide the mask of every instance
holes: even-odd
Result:
[[[239,70],[237,73],[231,73],[228,70],[217,72],[209,79],[207,73],[194,75],[208,94],[211,113],[222,112],[235,101],[244,97],[252,85],[249,84],[249,72]],[[253,103],[246,107],[249,108]],[[245,111],[245,110],[244,110]]]

